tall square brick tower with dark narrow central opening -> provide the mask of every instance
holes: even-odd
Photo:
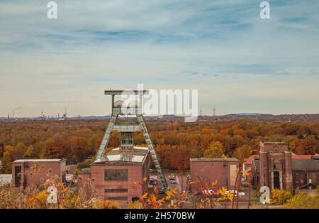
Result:
[[[260,186],[292,190],[291,152],[287,143],[260,143]]]

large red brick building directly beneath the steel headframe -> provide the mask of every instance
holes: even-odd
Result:
[[[79,171],[78,190],[85,190],[87,180],[94,179],[93,197],[115,200],[122,207],[127,207],[134,200],[147,192],[147,178],[150,170],[150,153],[147,147],[124,150],[114,148],[91,164],[91,168]]]

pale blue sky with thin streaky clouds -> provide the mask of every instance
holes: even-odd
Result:
[[[111,112],[104,89],[198,89],[203,114],[319,113],[319,1],[0,0],[0,116]]]

